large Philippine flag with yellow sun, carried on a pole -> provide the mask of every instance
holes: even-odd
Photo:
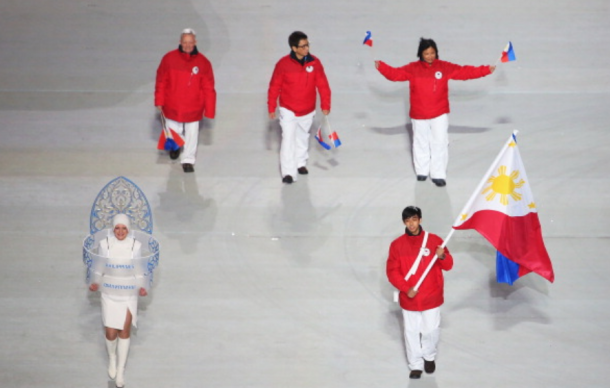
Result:
[[[475,229],[497,250],[498,282],[535,272],[555,280],[542,240],[536,202],[517,147],[516,131],[464,206],[454,229]]]

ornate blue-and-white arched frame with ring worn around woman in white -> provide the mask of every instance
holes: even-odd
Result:
[[[140,257],[117,259],[100,254],[100,244],[113,236],[112,219],[117,214],[129,217],[127,239],[141,244]],[[87,284],[98,283],[102,292],[113,295],[137,295],[141,287],[148,290],[159,265],[159,241],[152,229],[150,204],[135,183],[121,176],[106,184],[93,203],[91,234],[83,241]]]

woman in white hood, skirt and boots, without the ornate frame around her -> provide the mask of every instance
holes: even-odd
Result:
[[[100,242],[99,255],[113,259],[136,259],[140,257],[142,244],[129,235],[129,217],[117,214],[112,219],[114,236]],[[97,291],[98,283],[89,286],[90,291]],[[140,296],[146,296],[146,289],[141,287]],[[102,320],[106,332],[106,349],[108,350],[108,375],[115,379],[116,386],[125,385],[124,371],[129,353],[129,336],[131,325],[137,327],[138,297],[109,295],[102,292]]]

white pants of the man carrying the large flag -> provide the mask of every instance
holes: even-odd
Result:
[[[407,362],[411,370],[423,370],[424,359],[434,361],[440,338],[441,308],[402,310]]]

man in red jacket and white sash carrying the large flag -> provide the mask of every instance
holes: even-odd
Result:
[[[443,240],[422,229],[421,215],[421,210],[416,206],[402,211],[405,234],[390,245],[386,263],[388,280],[399,291],[407,361],[411,369],[409,377],[412,379],[420,378],[422,369],[426,373],[434,373],[436,369],[440,306],[444,302],[443,271],[453,267],[449,250],[442,248]],[[415,285],[435,253],[438,260],[416,291]]]

